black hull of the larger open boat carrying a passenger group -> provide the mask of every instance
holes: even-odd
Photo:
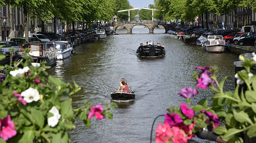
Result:
[[[165,55],[165,49],[157,45],[144,45],[139,46],[136,53],[140,56],[162,56]]]

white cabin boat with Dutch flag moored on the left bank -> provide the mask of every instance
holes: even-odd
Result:
[[[73,44],[69,41],[54,41],[56,44],[54,52],[58,60],[63,60],[73,54]],[[46,43],[47,44],[47,43]]]

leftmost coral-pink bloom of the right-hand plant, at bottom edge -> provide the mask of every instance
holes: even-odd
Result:
[[[165,143],[169,140],[169,137],[173,135],[168,123],[165,123],[164,125],[159,123],[155,132],[157,133],[156,143]]]

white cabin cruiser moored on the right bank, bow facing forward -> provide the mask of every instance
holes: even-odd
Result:
[[[209,35],[205,44],[206,51],[212,53],[222,53],[226,49],[225,40],[221,35]]]

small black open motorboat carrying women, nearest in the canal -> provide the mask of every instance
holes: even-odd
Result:
[[[129,89],[130,93],[127,93],[123,90],[115,90],[114,92],[111,92],[111,98],[113,100],[131,100],[135,98],[135,91],[131,88]]]

